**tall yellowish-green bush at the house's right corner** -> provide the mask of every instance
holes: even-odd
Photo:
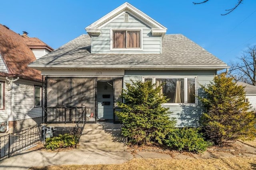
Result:
[[[221,145],[228,140],[254,138],[255,117],[249,110],[249,103],[244,102],[243,86],[220,74],[202,89],[206,97],[199,97],[199,100],[206,107],[206,112],[202,114],[201,123],[210,140]]]

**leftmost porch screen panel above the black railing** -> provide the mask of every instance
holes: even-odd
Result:
[[[47,107],[68,107],[70,102],[70,78],[48,78]]]

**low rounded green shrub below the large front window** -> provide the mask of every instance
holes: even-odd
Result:
[[[167,135],[166,146],[170,149],[190,152],[204,152],[211,143],[204,141],[202,133],[198,128],[180,128]]]

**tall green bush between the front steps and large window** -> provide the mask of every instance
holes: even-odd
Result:
[[[160,90],[160,86],[149,81],[126,83],[121,94],[124,103],[118,103],[122,111],[116,111],[116,115],[124,125],[122,134],[131,145],[162,144],[174,129],[176,121],[168,117],[171,114],[168,108],[162,107],[168,100],[159,95]]]

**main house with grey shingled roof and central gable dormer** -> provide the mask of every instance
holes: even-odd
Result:
[[[195,97],[202,95],[200,84],[228,66],[184,35],[166,30],[124,3],[86,27],[88,35],[29,64],[47,82],[46,123],[75,122],[83,106],[95,121],[115,122],[122,88],[139,80],[165,82],[161,93],[170,98],[163,104],[173,112],[170,117],[177,118],[177,126],[198,125],[204,109]]]

